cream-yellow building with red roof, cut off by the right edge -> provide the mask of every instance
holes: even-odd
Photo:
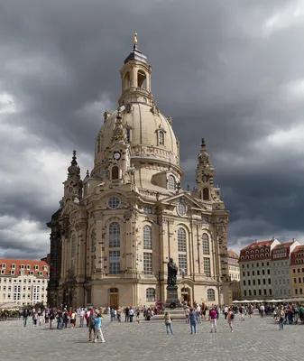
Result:
[[[290,256],[290,277],[292,297],[304,294],[304,245],[296,246]]]

